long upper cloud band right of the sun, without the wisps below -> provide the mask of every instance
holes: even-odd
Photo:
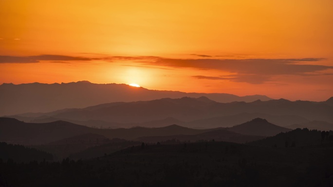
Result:
[[[309,65],[299,62],[320,61],[322,58],[302,59],[158,59],[154,65],[173,68],[216,69],[239,74],[302,75],[332,66]]]

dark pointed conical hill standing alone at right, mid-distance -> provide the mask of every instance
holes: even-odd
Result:
[[[281,132],[291,131],[284,127],[280,127],[268,122],[266,119],[252,119],[246,123],[226,128],[228,131],[236,132],[242,135],[253,136],[275,136]]]

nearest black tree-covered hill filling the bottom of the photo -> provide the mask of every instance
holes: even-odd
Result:
[[[332,147],[228,142],[131,146],[91,160],[0,162],[0,186],[332,187]]]

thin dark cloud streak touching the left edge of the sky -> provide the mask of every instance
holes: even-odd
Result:
[[[0,56],[0,63],[38,63],[40,61],[90,61],[93,58],[43,54],[36,56]]]

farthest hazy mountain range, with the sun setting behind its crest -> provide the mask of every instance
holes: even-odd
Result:
[[[27,112],[50,112],[63,108],[83,108],[108,102],[149,101],[161,98],[207,97],[216,102],[270,100],[267,96],[239,97],[225,93],[185,93],[148,90],[125,84],[93,84],[88,81],[61,84],[0,85],[0,116]],[[205,98],[201,98],[201,101]]]

